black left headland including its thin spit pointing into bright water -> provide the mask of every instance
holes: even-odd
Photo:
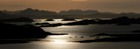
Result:
[[[40,27],[33,25],[17,26],[13,24],[0,23],[0,44],[28,43],[39,41],[48,35],[67,35],[45,32]]]

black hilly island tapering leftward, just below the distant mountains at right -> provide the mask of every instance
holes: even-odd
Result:
[[[140,24],[140,18],[128,18],[127,16],[122,16],[112,18],[109,20],[85,19],[82,21],[70,22],[63,25],[88,25],[88,24],[117,24],[117,25]]]

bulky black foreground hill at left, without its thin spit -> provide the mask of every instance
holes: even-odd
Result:
[[[16,26],[0,23],[0,39],[45,38],[47,35],[52,35],[52,33],[33,25]]]

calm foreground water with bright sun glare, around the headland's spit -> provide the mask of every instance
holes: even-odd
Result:
[[[140,25],[81,25],[43,27],[45,31],[52,33],[68,33],[69,35],[48,36],[41,41],[19,44],[0,44],[0,49],[140,49],[140,42],[93,42],[76,43],[71,41],[94,39],[89,37],[97,33],[132,33],[139,30]],[[84,37],[84,38],[81,38]]]

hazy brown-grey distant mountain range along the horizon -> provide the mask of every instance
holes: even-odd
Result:
[[[0,11],[0,19],[8,18],[19,18],[19,17],[28,17],[32,19],[55,19],[55,18],[116,18],[119,16],[127,16],[130,18],[137,18],[140,16],[139,13],[112,13],[112,12],[99,12],[98,10],[80,10],[80,9],[71,9],[60,12],[48,11],[48,10],[39,10],[27,8],[24,10],[18,11]]]

